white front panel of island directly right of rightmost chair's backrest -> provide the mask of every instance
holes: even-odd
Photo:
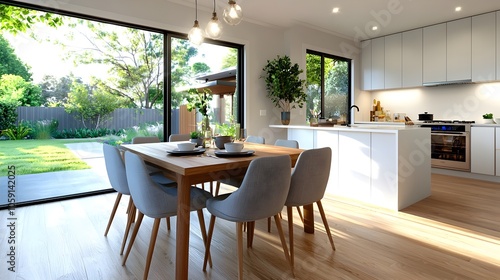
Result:
[[[335,194],[370,201],[370,133],[339,131],[339,188]]]

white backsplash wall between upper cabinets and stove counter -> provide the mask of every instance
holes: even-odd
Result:
[[[433,114],[434,119],[479,123],[485,113],[500,117],[500,83],[363,92],[361,95],[370,96],[369,104],[363,103],[360,106],[364,121],[369,120],[370,100],[374,98],[380,100],[384,109],[391,110],[392,113],[406,113],[412,120],[418,120],[418,114],[425,111]]]

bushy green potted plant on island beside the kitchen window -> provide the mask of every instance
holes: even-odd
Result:
[[[290,123],[290,109],[297,105],[302,108],[307,94],[304,92],[305,80],[299,75],[304,72],[297,63],[292,64],[290,57],[279,56],[268,60],[263,78],[266,82],[267,96],[275,107],[281,109],[281,123]]]

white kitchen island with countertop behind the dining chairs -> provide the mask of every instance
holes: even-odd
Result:
[[[400,210],[431,194],[430,129],[417,126],[360,125],[287,129],[300,148],[330,147],[327,192]],[[320,168],[320,166],[318,166]]]

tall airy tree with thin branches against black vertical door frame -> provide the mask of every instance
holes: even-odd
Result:
[[[139,108],[162,107],[163,35],[91,21],[72,24],[90,46],[70,53],[75,64],[109,67],[108,79],[99,79],[106,91],[126,98]],[[86,27],[86,29],[84,29]]]

